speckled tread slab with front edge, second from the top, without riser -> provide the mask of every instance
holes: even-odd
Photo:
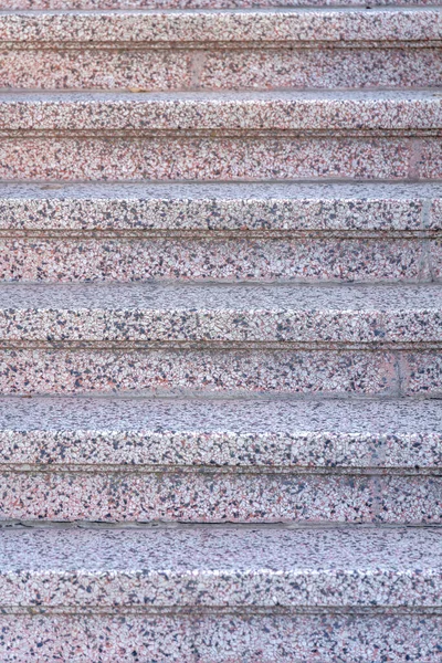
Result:
[[[1,93],[0,129],[56,131],[323,131],[442,129],[430,91]]]

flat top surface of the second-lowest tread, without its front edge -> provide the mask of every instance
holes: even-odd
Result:
[[[442,435],[442,401],[1,398],[0,430]],[[362,443],[362,442],[361,442]]]

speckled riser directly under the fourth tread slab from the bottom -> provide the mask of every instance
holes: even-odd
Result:
[[[420,239],[0,240],[0,280],[427,282],[442,241]]]

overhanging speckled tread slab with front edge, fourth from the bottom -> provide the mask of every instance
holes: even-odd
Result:
[[[2,183],[0,230],[422,232],[441,199],[438,182]]]

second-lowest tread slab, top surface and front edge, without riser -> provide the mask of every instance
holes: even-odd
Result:
[[[0,399],[2,469],[442,467],[438,400]]]

